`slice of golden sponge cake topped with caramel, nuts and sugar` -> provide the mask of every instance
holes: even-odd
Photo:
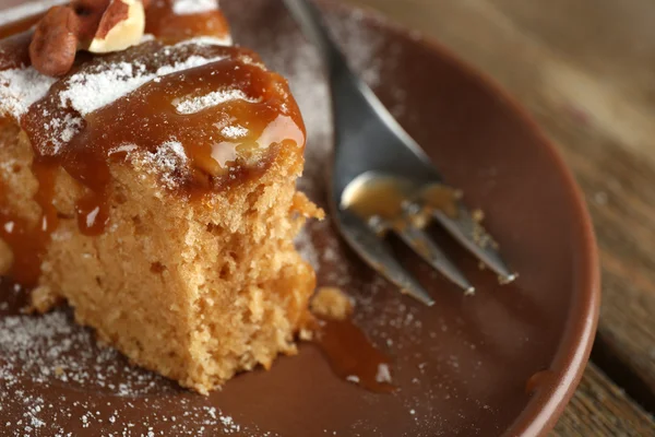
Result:
[[[212,2],[99,3],[0,43],[0,274],[206,393],[295,353],[311,317],[305,127]]]

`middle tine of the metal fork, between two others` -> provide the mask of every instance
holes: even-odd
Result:
[[[464,274],[448,259],[425,231],[407,225],[395,227],[394,233],[437,271],[464,290],[465,294],[475,293],[475,287],[471,285]]]

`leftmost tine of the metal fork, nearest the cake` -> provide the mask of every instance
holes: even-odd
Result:
[[[429,307],[434,305],[428,292],[403,269],[386,244],[369,226],[348,210],[340,211],[336,216],[344,237],[372,269],[398,286],[404,294]]]

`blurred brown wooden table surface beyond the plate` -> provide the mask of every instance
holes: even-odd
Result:
[[[592,363],[553,436],[655,436],[655,1],[348,1],[450,47],[560,144],[604,285]]]

